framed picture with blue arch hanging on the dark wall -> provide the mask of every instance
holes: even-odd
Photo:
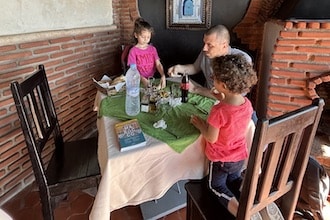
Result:
[[[212,0],[166,0],[166,28],[207,29],[211,25]]]

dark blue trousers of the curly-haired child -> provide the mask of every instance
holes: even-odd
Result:
[[[244,160],[238,162],[210,162],[209,187],[218,197],[219,202],[226,208],[231,198],[239,197],[243,164]]]

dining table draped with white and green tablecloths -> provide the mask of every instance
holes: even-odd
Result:
[[[91,220],[109,220],[112,211],[160,199],[180,180],[202,179],[208,173],[205,140],[189,122],[191,115],[206,119],[215,100],[189,93],[188,102],[163,103],[156,112],[125,113],[125,93],[108,96],[100,91],[94,100],[97,111],[98,161],[101,181],[89,215]],[[137,118],[146,145],[120,152],[114,125]],[[166,128],[156,128],[159,120]],[[252,122],[252,120],[251,120]],[[254,124],[247,130],[252,142]]]

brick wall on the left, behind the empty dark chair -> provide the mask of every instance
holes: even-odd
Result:
[[[64,139],[95,131],[92,78],[121,73],[120,45],[129,40],[138,16],[136,0],[112,2],[113,26],[0,39],[0,205],[34,180],[10,83],[44,64]]]

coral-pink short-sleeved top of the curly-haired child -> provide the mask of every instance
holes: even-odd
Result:
[[[245,132],[252,112],[251,102],[246,97],[240,106],[220,102],[212,107],[207,121],[220,131],[214,144],[206,141],[205,154],[209,160],[237,162],[247,158]]]

